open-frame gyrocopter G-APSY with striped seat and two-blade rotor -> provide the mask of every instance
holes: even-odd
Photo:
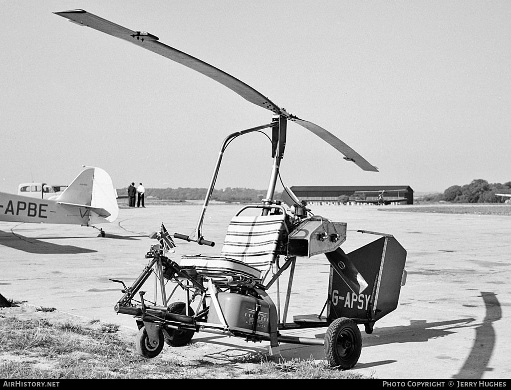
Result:
[[[363,170],[378,172],[378,169],[327,130],[289,114],[247,84],[159,42],[152,34],[126,29],[84,10],[56,14],[196,70],[273,113],[269,123],[234,132],[225,138],[195,230],[189,235],[173,235],[199,245],[215,245],[202,236],[202,224],[223,152],[236,137],[271,129],[273,167],[266,197],[260,204],[243,206],[236,213],[228,226],[220,255],[170,259],[167,253],[174,243],[162,225],[153,235],[159,243],[151,246],[145,256],[149,262],[134,283],[127,287],[124,282],[112,279],[123,284],[124,294],[115,305],[115,311],[133,315],[139,328],[135,341],[137,351],[152,358],[161,352],[164,344],[186,345],[200,331],[241,337],[247,342],[267,341],[270,354],[278,353],[279,343],[323,345],[333,367],[352,368],[362,348],[358,325],[364,325],[366,333],[372,333],[375,322],[398,305],[406,279],[406,251],[390,234],[360,230],[380,238],[345,254],[340,246],[346,239],[346,223],[313,215],[305,202],[297,199],[287,187],[282,202],[274,199],[286,147],[287,121],[316,134],[341,152],[345,160]],[[246,215],[254,210],[257,215]],[[328,298],[320,314],[296,315],[289,321],[287,314],[297,257],[319,254],[324,254],[330,262]],[[275,305],[269,289],[276,284],[280,296],[280,287],[275,282],[287,271],[287,294],[281,318],[280,300],[277,299]],[[141,288],[152,274],[156,276],[156,286],[154,298],[149,300]],[[174,287],[171,289],[171,286]],[[175,301],[178,288],[186,302]],[[324,339],[282,332],[320,327],[327,327]]]

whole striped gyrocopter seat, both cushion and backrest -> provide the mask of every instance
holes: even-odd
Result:
[[[284,214],[240,216],[231,220],[219,257],[182,256],[181,267],[225,282],[262,282],[274,261]]]

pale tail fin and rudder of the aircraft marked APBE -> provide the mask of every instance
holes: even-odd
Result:
[[[91,210],[89,224],[94,225],[115,221],[119,215],[116,198],[117,192],[113,188],[110,176],[101,168],[87,168],[82,170],[56,201],[74,206],[87,206]]]

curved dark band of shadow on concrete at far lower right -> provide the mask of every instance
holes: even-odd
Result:
[[[472,350],[453,379],[481,379],[485,372],[493,370],[488,367],[495,347],[493,323],[502,318],[502,309],[495,293],[481,291],[481,297],[486,307],[486,315],[482,324],[475,328],[476,337]]]

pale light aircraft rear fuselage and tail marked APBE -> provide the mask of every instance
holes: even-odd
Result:
[[[19,192],[29,192],[24,188],[29,184],[32,187],[32,183],[27,183],[20,186]],[[43,187],[42,183],[34,184],[34,187],[38,185]],[[44,192],[39,191],[39,199],[0,192],[0,221],[90,226],[104,237],[103,229],[94,225],[113,222],[119,215],[117,191],[110,176],[101,168],[82,170],[54,199],[42,199]]]

